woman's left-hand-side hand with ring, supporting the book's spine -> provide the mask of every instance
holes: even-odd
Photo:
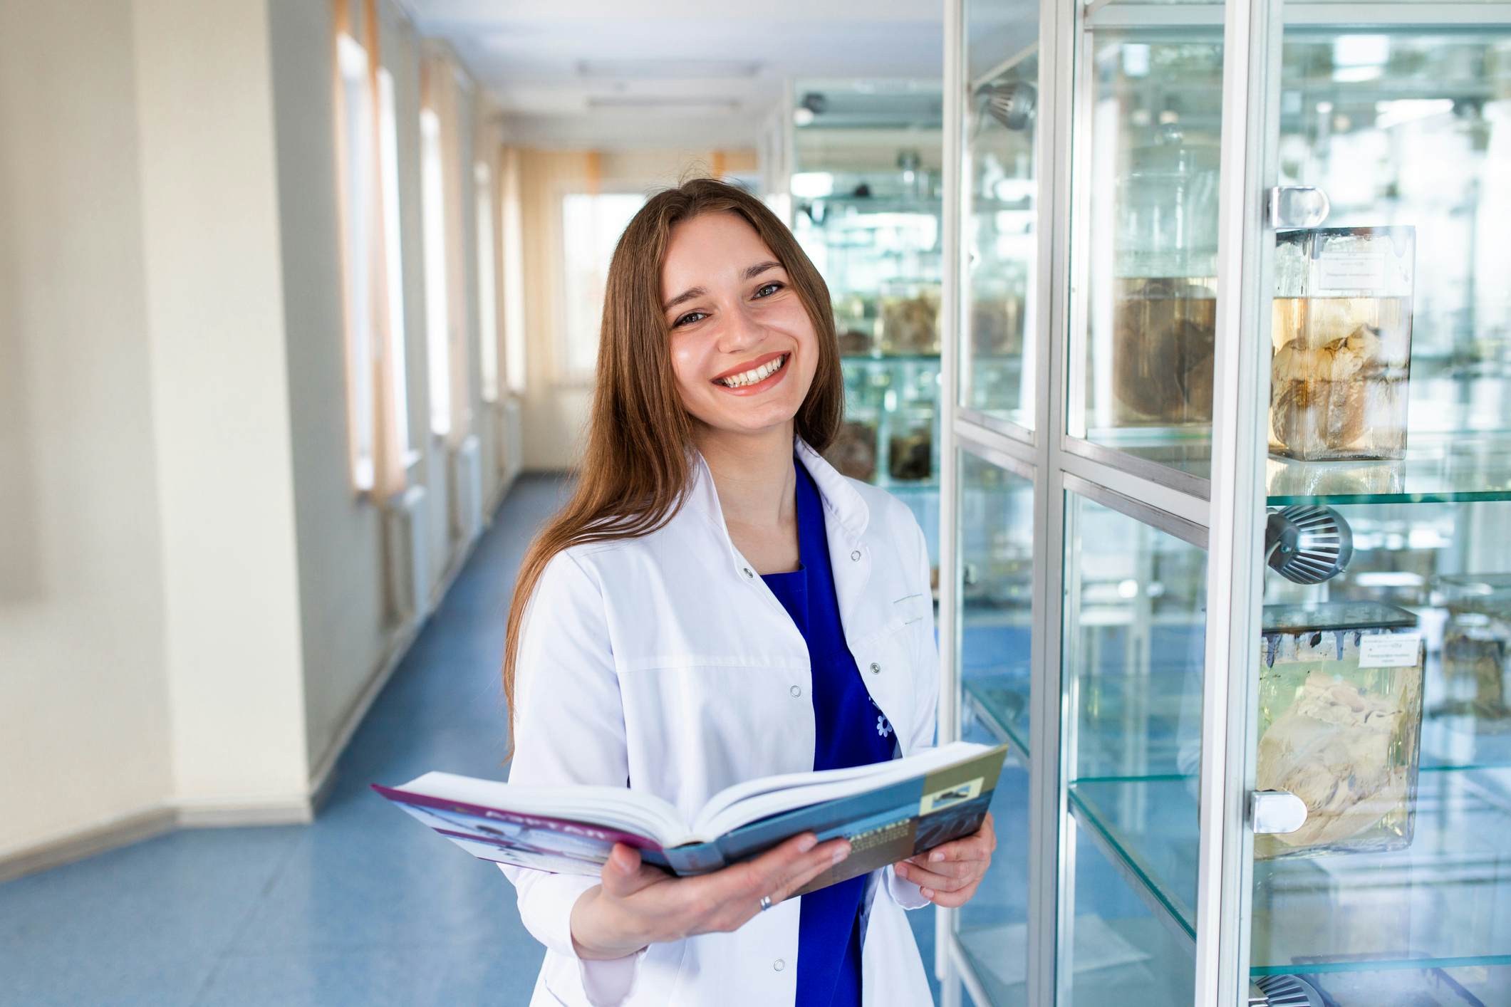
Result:
[[[739,930],[762,910],[763,895],[775,906],[846,856],[845,839],[817,845],[805,832],[743,864],[674,877],[615,842],[600,883],[573,904],[573,945],[583,959],[618,959],[648,944]]]

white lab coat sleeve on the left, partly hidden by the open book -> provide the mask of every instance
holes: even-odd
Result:
[[[520,631],[511,784],[624,787],[624,710],[609,646],[603,592],[570,553],[545,565]],[[548,950],[577,960],[594,1004],[621,1002],[644,954],[577,959],[571,910],[597,877],[499,865],[518,892],[524,927]]]

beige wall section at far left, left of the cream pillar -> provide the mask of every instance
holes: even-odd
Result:
[[[133,74],[0,0],[0,858],[172,788]]]

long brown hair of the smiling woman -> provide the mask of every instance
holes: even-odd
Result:
[[[624,228],[609,261],[598,340],[598,379],[577,489],[530,544],[509,605],[503,646],[503,694],[514,750],[514,681],[524,608],[553,556],[573,545],[633,539],[663,527],[681,509],[691,482],[692,420],[672,373],[671,328],[660,308],[662,263],[671,229],[703,213],[736,213],[787,270],[817,335],[813,385],[798,409],[796,432],[822,451],[845,411],[839,340],[830,288],[775,213],[743,189],[694,178],[653,195]]]

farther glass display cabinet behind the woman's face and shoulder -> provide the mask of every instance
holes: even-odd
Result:
[[[825,454],[937,528],[940,83],[799,79],[792,94],[792,228],[830,285],[845,373]]]

